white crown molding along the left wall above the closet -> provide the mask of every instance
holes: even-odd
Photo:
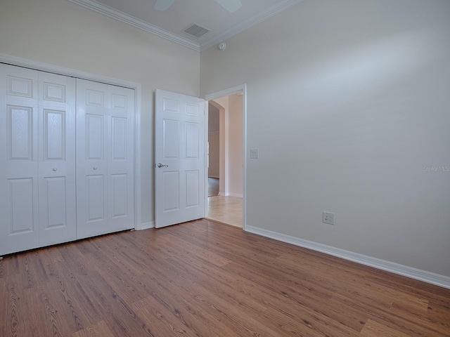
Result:
[[[165,29],[161,29],[160,27],[151,25],[148,22],[136,19],[131,15],[127,15],[121,11],[117,11],[116,9],[111,8],[109,6],[99,4],[96,1],[93,0],[67,0],[67,1],[82,6],[84,8],[88,8],[91,11],[106,15],[109,18],[113,18],[127,25],[133,26],[137,29],[141,29],[144,32],[154,34],[158,37],[162,37],[163,39],[175,42],[176,44],[181,44],[181,46],[191,48],[194,51],[200,51],[200,46],[195,42],[179,37],[178,35],[172,34],[171,32],[167,32],[167,30]]]

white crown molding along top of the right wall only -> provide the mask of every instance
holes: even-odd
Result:
[[[263,11],[262,13],[258,13],[257,15],[252,16],[252,18],[248,18],[247,20],[240,22],[240,24],[233,26],[230,29],[227,29],[225,32],[217,35],[217,37],[214,37],[213,39],[210,39],[206,41],[203,44],[200,44],[200,51],[204,51],[207,48],[210,48],[216,44],[219,44],[226,39],[229,39],[241,32],[244,32],[245,30],[249,29],[250,27],[253,27],[257,25],[259,22],[262,22],[264,20],[267,20],[268,18],[271,18],[272,16],[281,13],[285,11],[286,9],[296,5],[300,4],[304,0],[284,0],[278,2],[278,4],[275,4],[274,6],[271,6],[270,8],[267,8],[266,11]]]

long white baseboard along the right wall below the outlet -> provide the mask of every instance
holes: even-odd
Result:
[[[419,270],[406,265],[399,265],[386,260],[380,260],[379,258],[372,258],[371,256],[362,255],[359,253],[353,253],[352,251],[345,251],[344,249],[338,249],[326,244],[318,244],[308,240],[300,239],[298,237],[292,237],[271,230],[264,230],[262,228],[254,226],[245,226],[245,231],[262,235],[263,237],[269,237],[288,244],[294,244],[303,248],[311,249],[313,251],[320,251],[328,255],[336,256],[338,258],[344,258],[352,262],[361,263],[361,265],[368,265],[387,272],[393,272],[394,274],[410,277],[411,279],[418,279],[419,281],[435,284],[436,286],[442,286],[443,288],[450,289],[450,277],[444,275],[427,272],[425,270]]]

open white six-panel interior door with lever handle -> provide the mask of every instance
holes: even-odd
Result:
[[[155,227],[205,216],[205,100],[155,95]]]

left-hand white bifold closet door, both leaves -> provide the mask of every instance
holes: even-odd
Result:
[[[75,79],[0,64],[0,255],[76,239]]]

